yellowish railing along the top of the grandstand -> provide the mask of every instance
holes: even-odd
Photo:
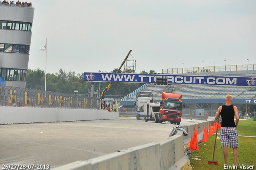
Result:
[[[256,70],[256,65],[244,64],[244,65],[189,67],[189,68],[163,68],[162,73],[182,74],[182,73],[198,73],[198,72],[242,71],[242,70]]]

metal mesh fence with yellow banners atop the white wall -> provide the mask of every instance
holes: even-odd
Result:
[[[0,106],[99,109],[100,98],[0,85]]]

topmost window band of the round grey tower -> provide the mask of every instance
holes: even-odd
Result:
[[[0,20],[0,29],[31,31],[32,23]]]

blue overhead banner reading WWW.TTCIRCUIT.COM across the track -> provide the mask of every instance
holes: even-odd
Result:
[[[86,82],[156,83],[157,78],[166,78],[167,84],[256,86],[256,77],[84,72]]]

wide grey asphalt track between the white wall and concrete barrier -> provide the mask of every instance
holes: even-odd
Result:
[[[182,119],[180,126],[204,122]],[[88,160],[117,150],[166,140],[170,122],[136,120],[90,120],[0,125],[0,165],[42,164],[50,168]]]

